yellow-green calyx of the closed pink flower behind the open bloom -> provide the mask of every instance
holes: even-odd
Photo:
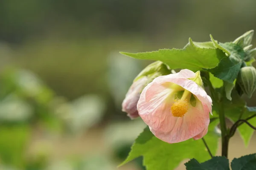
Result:
[[[144,68],[134,79],[134,82],[145,76],[148,77],[149,82],[152,82],[153,79],[168,74],[171,74],[171,70],[169,70],[168,66],[161,61],[156,61]]]

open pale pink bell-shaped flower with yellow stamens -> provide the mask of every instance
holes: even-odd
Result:
[[[200,72],[188,69],[149,83],[137,104],[151,132],[168,143],[201,139],[207,134],[212,99],[201,87]]]

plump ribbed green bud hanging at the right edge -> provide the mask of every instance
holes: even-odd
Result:
[[[253,66],[241,68],[237,77],[237,84],[250,98],[256,90],[256,69]]]

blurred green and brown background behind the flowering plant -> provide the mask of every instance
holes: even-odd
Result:
[[[233,41],[256,30],[255,6],[253,0],[0,0],[0,170],[117,170],[145,127],[122,113],[122,99],[150,63],[118,52],[183,48],[189,37],[208,41],[209,34]],[[244,148],[236,134],[230,158],[255,153],[255,141]],[[141,162],[119,170],[143,170]]]

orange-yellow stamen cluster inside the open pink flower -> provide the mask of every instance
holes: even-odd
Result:
[[[172,115],[175,117],[183,117],[189,109],[189,102],[187,99],[175,99],[175,103],[171,107]]]

